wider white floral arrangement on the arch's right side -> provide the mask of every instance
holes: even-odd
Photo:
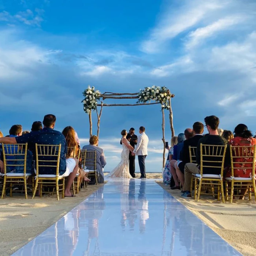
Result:
[[[140,89],[138,93],[139,100],[137,103],[146,103],[148,101],[160,102],[163,109],[169,109],[169,98],[171,97],[170,91],[165,86],[152,86]]]

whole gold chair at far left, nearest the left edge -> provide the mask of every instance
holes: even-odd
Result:
[[[31,173],[26,173],[27,168],[27,143],[26,144],[2,144],[3,160],[4,160],[4,182],[2,199],[6,192],[6,184],[10,184],[10,196],[12,196],[12,185],[24,184],[24,190],[16,192],[25,192],[27,199],[27,178],[32,176]],[[23,173],[7,172],[7,169],[13,171],[23,167]]]

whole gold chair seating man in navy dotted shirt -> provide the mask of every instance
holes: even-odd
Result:
[[[41,145],[35,144],[36,153],[36,176],[35,176],[35,189],[32,199],[35,197],[37,187],[40,187],[40,197],[42,197],[43,185],[47,187],[56,188],[57,200],[60,200],[59,191],[62,191],[62,198],[64,198],[65,177],[59,175],[60,167],[60,150],[59,145]],[[48,160],[49,159],[49,160]],[[40,174],[40,168],[51,168],[55,170],[55,174]],[[62,181],[61,183],[59,181]],[[61,189],[59,187],[62,187]],[[53,193],[44,191],[44,193]]]

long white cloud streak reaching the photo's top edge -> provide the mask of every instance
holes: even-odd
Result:
[[[195,26],[209,12],[214,12],[225,7],[226,1],[184,1],[184,5],[172,11],[172,6],[168,8],[162,16],[161,21],[150,33],[149,39],[142,42],[142,51],[146,53],[156,53],[161,46],[178,34]]]

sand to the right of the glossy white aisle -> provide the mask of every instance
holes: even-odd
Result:
[[[225,204],[202,195],[200,201],[181,197],[180,190],[171,190],[162,182],[157,183],[169,192],[185,207],[202,219],[212,230],[221,236],[242,255],[256,255],[256,202],[254,197],[248,200],[233,200]],[[201,199],[202,198],[202,199]]]

